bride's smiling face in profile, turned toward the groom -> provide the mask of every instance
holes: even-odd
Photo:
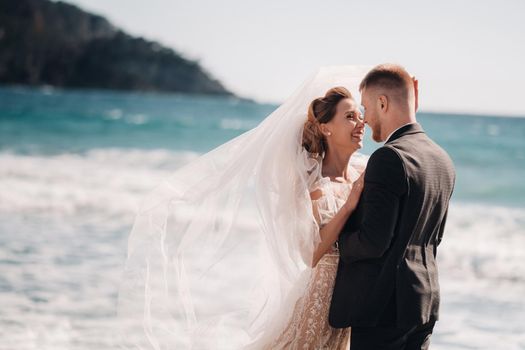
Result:
[[[352,151],[362,148],[365,133],[362,118],[359,106],[353,99],[339,101],[334,117],[326,123],[328,147]]]

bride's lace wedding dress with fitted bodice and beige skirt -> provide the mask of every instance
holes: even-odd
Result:
[[[359,173],[349,167],[354,181]],[[326,225],[339,211],[351,190],[351,184],[320,177],[311,192],[320,190],[322,195],[313,200],[313,209],[320,227]],[[281,335],[266,349],[348,350],[350,328],[332,328],[328,312],[339,261],[337,247],[326,253],[313,269],[304,295],[297,301],[290,321]]]

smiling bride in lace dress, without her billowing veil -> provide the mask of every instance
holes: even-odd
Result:
[[[314,249],[314,269],[304,295],[284,332],[268,349],[349,348],[349,329],[330,327],[328,310],[339,261],[334,244],[362,190],[360,174],[364,169],[349,166],[349,159],[362,147],[363,134],[357,103],[344,87],[330,89],[310,104],[303,146],[308,152],[324,155],[319,156],[319,174],[310,188],[320,241]]]

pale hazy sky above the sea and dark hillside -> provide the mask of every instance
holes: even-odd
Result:
[[[326,65],[399,63],[425,111],[525,116],[523,0],[67,0],[279,103]]]

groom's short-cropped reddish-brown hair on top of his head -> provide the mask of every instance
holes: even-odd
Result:
[[[359,91],[370,88],[396,92],[396,95],[407,98],[409,91],[413,88],[413,81],[402,66],[385,63],[368,72],[359,85]]]

